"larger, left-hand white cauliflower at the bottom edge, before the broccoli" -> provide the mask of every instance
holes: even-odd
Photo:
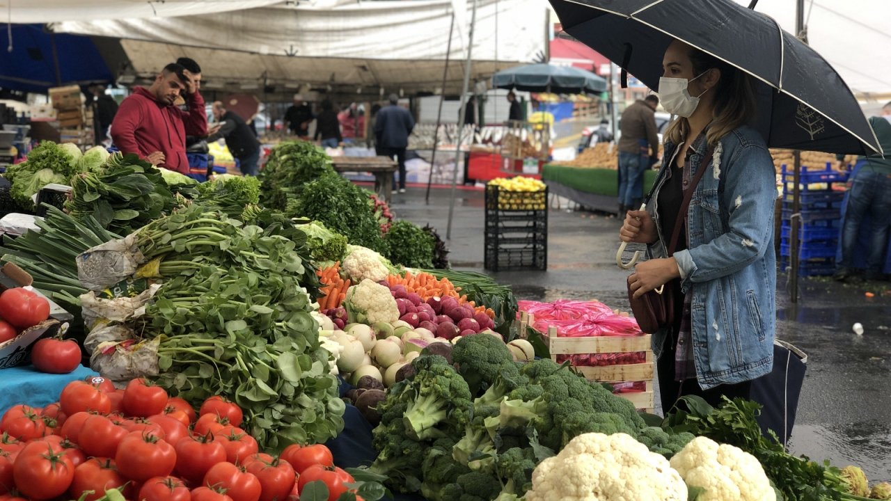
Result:
[[[687,501],[668,460],[625,433],[578,435],[532,473],[526,501]]]

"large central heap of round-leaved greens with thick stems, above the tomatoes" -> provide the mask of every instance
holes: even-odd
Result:
[[[309,315],[315,268],[287,219],[257,221],[266,227],[192,205],[144,226],[136,277],[163,284],[135,332],[161,340],[159,384],[193,404],[235,399],[264,448],[323,442],[342,430],[344,405]]]

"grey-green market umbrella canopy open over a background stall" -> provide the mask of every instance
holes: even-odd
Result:
[[[492,86],[526,92],[600,94],[607,90],[607,81],[591,71],[542,62],[499,71],[492,76]]]

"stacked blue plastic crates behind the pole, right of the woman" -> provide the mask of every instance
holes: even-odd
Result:
[[[783,198],[780,266],[790,266],[792,242],[794,169],[782,166]],[[801,219],[798,226],[798,275],[832,275],[835,272],[841,205],[845,192],[835,190],[847,181],[846,172],[838,172],[830,163],[825,168],[802,166],[799,196]]]

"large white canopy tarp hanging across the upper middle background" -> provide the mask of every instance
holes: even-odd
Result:
[[[403,0],[335,5],[329,9],[278,4],[168,19],[64,21],[56,32],[122,39],[138,75],[153,75],[176,57],[192,57],[205,80],[259,85],[382,86],[435,92],[453,0]],[[456,15],[446,92],[463,77],[470,15]],[[473,41],[474,80],[532,62],[544,53],[547,5],[540,0],[478,0]],[[463,35],[463,36],[462,36]]]

